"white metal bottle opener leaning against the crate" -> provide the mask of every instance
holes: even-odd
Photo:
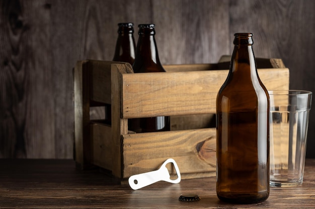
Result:
[[[173,163],[176,174],[178,176],[177,179],[173,180],[170,178],[171,176],[169,170],[166,167],[168,163]],[[164,180],[170,183],[179,183],[181,181],[181,173],[174,159],[167,159],[158,170],[132,175],[129,177],[128,182],[130,187],[136,190],[160,180]]]

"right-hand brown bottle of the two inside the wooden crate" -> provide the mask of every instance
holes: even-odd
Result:
[[[141,24],[136,56],[133,63],[134,73],[166,72],[161,65],[155,42],[154,24]],[[170,130],[170,117],[135,118],[128,120],[128,129],[139,132]]]

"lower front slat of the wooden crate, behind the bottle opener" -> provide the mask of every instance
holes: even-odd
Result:
[[[124,135],[123,177],[156,170],[168,158],[183,174],[213,172],[215,141],[215,128]]]

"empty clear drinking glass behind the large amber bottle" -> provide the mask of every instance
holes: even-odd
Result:
[[[283,187],[303,182],[308,116],[312,93],[300,90],[269,91],[270,185]]]

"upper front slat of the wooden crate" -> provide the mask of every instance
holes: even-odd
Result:
[[[288,69],[259,69],[267,89],[288,89]],[[122,117],[215,113],[227,70],[122,75]]]

